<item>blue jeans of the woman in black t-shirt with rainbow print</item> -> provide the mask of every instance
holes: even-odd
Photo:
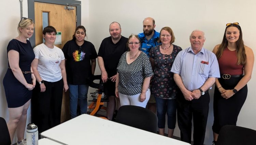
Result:
[[[86,114],[87,113],[87,93],[88,93],[89,86],[88,85],[72,85],[72,84],[68,84],[68,86],[69,86],[71,118],[76,117],[78,102],[80,105],[81,114]]]

